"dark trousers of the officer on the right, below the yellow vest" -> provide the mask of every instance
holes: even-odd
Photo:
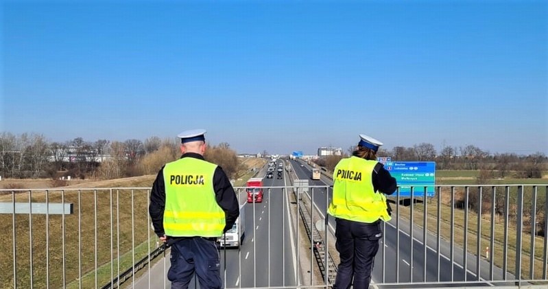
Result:
[[[367,289],[371,281],[373,261],[382,238],[381,222],[354,222],[336,219],[335,247],[340,261],[333,289],[348,289],[354,279],[354,289]]]

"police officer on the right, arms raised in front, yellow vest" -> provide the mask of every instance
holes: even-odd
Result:
[[[328,213],[335,217],[335,247],[340,264],[333,289],[369,288],[374,257],[382,238],[381,220],[390,221],[385,194],[396,191],[396,179],[377,161],[383,143],[359,135],[352,157],[333,172],[333,199]]]

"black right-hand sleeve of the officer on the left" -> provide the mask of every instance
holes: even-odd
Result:
[[[224,170],[219,166],[217,166],[215,174],[213,174],[213,189],[215,190],[215,200],[217,200],[217,204],[224,211],[226,226],[223,232],[226,233],[236,222],[240,209],[234,188],[230,184]]]

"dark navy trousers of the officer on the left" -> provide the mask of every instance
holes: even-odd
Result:
[[[196,273],[200,288],[222,288],[219,251],[215,238],[184,238],[171,244],[171,289],[186,289]]]

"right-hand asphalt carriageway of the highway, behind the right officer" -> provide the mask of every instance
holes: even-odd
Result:
[[[326,186],[333,185],[330,178],[326,178],[322,175],[322,179],[311,180],[311,167],[303,161],[291,160],[291,165],[294,167],[295,173],[300,179],[308,179],[310,186]],[[331,187],[326,192],[325,188],[316,187],[309,189],[309,192],[314,194],[315,209],[320,211],[323,216],[326,216],[326,208],[331,201]],[[438,266],[438,253],[437,236],[430,233],[427,234],[427,246],[424,245],[422,238],[422,229],[414,227],[413,243],[410,241],[411,237],[409,220],[401,219],[399,222],[399,241],[398,233],[396,230],[396,218],[394,218],[395,211],[393,211],[393,218],[390,222],[386,223],[383,229],[384,243],[381,242],[381,247],[377,253],[374,261],[374,270],[372,274],[373,283],[390,284],[396,282],[443,282],[443,281],[479,281],[478,284],[468,284],[468,286],[489,286],[490,284],[482,283],[481,281],[489,278],[489,263],[485,260],[480,262],[480,279],[477,278],[477,259],[473,254],[467,255],[467,270],[464,274],[463,266],[463,251],[461,248],[454,248],[454,262],[451,262],[451,244],[440,240],[440,257]],[[331,233],[335,232],[335,219],[329,216],[329,227]],[[384,246],[384,248],[382,247]],[[413,246],[413,248],[411,248]],[[399,250],[397,249],[399,247]],[[425,251],[426,250],[426,251]],[[331,254],[337,254],[337,252],[331,252]],[[426,256],[426,262],[424,262]],[[383,264],[383,260],[386,262],[386,266]],[[398,260],[398,269],[396,275],[396,260]],[[426,268],[425,265],[426,264]],[[453,265],[452,265],[453,264]],[[383,268],[385,268],[383,272]],[[425,272],[426,270],[426,272]],[[439,280],[438,280],[439,273]],[[411,276],[413,279],[411,279]],[[502,279],[502,270],[495,268],[495,279]],[[509,276],[513,278],[513,276]],[[422,285],[421,287],[424,287]],[[446,284],[446,286],[452,286]],[[454,284],[453,286],[458,286]],[[383,286],[383,288],[390,288],[390,286]]]

